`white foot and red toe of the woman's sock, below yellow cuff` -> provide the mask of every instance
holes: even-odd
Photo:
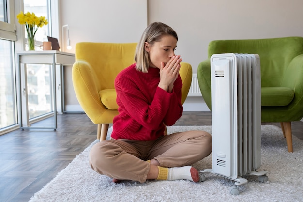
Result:
[[[199,181],[199,172],[192,166],[173,167],[168,169],[167,180]]]

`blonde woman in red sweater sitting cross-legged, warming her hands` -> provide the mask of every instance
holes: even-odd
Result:
[[[182,59],[175,55],[177,33],[155,22],[146,28],[135,53],[135,64],[115,79],[119,115],[113,120],[111,139],[95,144],[91,168],[113,182],[148,179],[199,181],[189,166],[212,151],[205,131],[164,135],[182,115],[179,76]]]

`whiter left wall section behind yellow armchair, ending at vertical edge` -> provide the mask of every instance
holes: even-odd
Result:
[[[65,46],[62,46],[60,40],[61,49],[75,53],[78,42],[139,41],[147,27],[147,0],[60,0],[59,14],[61,27],[65,24],[69,25],[72,45],[71,50],[64,48],[66,46],[66,38],[64,38]],[[60,35],[62,35],[61,29]],[[64,74],[66,110],[82,110],[74,93],[72,67],[65,67]]]

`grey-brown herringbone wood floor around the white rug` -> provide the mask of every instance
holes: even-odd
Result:
[[[51,126],[52,121],[39,124]],[[211,112],[184,112],[175,125],[211,125]],[[292,130],[303,140],[303,122],[293,122]],[[62,114],[57,131],[26,129],[0,136],[0,201],[29,201],[96,140],[96,133],[97,126],[86,114]]]

